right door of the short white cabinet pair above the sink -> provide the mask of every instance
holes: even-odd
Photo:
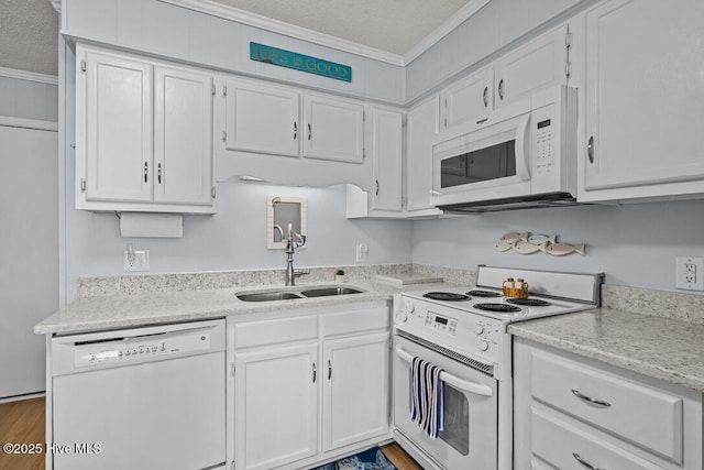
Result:
[[[364,107],[306,95],[304,156],[349,163],[364,161]]]

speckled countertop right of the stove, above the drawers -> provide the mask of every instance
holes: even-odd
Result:
[[[704,392],[704,325],[597,308],[509,326],[512,335]]]

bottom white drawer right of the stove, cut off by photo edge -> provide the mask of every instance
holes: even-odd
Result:
[[[584,470],[588,466],[604,470],[662,470],[662,467],[534,408],[531,467],[544,468],[537,458],[560,470]]]

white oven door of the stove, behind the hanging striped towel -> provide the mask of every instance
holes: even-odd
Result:
[[[394,427],[444,469],[497,469],[497,381],[398,335],[394,337]],[[410,362],[419,357],[446,373],[444,429],[430,438],[410,419]]]

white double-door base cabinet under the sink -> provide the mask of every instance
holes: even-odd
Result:
[[[307,469],[391,437],[389,307],[228,318],[228,461]]]

